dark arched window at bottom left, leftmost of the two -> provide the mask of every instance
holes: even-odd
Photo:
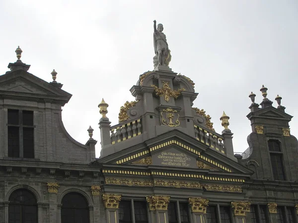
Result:
[[[37,223],[37,202],[26,189],[17,189],[9,197],[9,223]]]

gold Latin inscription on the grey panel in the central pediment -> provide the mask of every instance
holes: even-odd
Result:
[[[190,167],[190,158],[184,153],[161,152],[157,159],[164,166]]]

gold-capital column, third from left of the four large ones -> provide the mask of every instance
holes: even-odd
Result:
[[[192,222],[205,223],[207,222],[206,211],[209,200],[204,198],[190,197],[188,203],[191,208]]]

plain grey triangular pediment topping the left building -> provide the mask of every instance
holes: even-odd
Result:
[[[64,90],[24,70],[16,70],[1,75],[0,94],[3,97],[8,96],[10,98],[25,98],[25,100],[38,98],[59,100],[65,103],[68,102],[72,96]]]

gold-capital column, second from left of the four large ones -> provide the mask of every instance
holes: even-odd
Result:
[[[152,223],[168,223],[167,206],[170,202],[169,196],[148,196],[146,197],[149,211],[150,222]]]

